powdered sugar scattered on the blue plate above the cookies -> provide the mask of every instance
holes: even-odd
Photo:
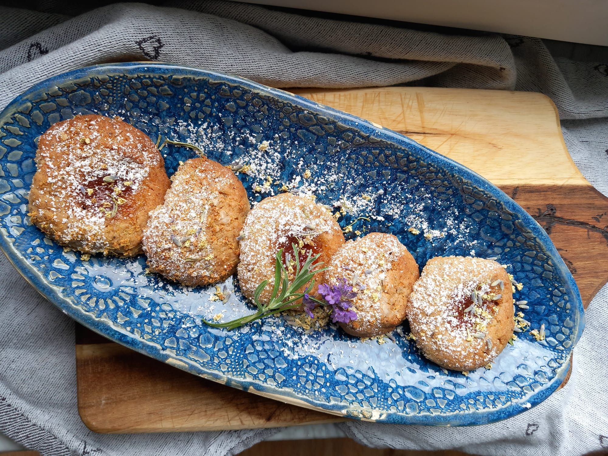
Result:
[[[167,137],[179,136],[210,154],[219,155],[219,161],[230,163],[241,180],[249,184],[252,204],[260,197],[280,192],[317,196],[340,210],[345,216],[345,224],[360,217],[369,219],[354,224],[351,231],[357,235],[376,223],[398,225],[404,227],[404,231],[408,227],[420,230],[433,244],[449,242],[451,246],[463,247],[469,252],[478,250],[477,241],[469,235],[471,221],[463,218],[449,201],[410,189],[395,182],[394,178],[384,180],[382,174],[377,174],[370,182],[361,170],[348,164],[342,153],[317,154],[314,147],[297,138],[229,128],[207,120],[178,120],[168,126],[165,133]],[[308,150],[306,156],[302,155],[304,150]],[[351,160],[357,158],[350,155]],[[339,192],[336,192],[337,188]],[[431,206],[441,208],[441,219],[429,218]]]

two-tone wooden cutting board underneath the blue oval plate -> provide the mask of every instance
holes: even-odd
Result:
[[[608,279],[608,199],[566,150],[555,106],[527,92],[436,88],[297,90],[379,123],[502,188],[550,234],[587,306]],[[344,419],[198,378],[80,327],[78,410],[95,432],[174,432]]]

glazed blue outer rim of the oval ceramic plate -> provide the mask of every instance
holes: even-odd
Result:
[[[387,130],[386,128],[371,123],[368,120],[361,119],[361,117],[353,116],[351,114],[338,111],[337,109],[330,108],[329,106],[320,105],[319,103],[308,100],[307,98],[291,94],[290,92],[286,92],[281,89],[270,88],[254,81],[250,81],[245,78],[240,78],[233,75],[198,69],[191,66],[135,62],[95,65],[81,69],[74,69],[72,71],[68,71],[63,74],[47,78],[46,80],[37,83],[36,85],[27,89],[27,91],[23,92],[18,97],[16,97],[0,113],[0,117],[3,117],[6,112],[14,111],[15,106],[18,106],[20,103],[24,102],[29,95],[33,94],[33,92],[40,91],[49,86],[63,84],[69,80],[78,80],[82,77],[86,77],[88,74],[96,71],[97,69],[103,69],[106,72],[115,71],[118,74],[126,74],[128,70],[136,71],[137,69],[141,69],[142,71],[145,71],[150,69],[156,69],[165,71],[169,75],[171,74],[170,71],[172,69],[180,69],[181,71],[187,71],[191,72],[192,74],[196,74],[197,77],[204,77],[210,80],[221,81],[233,85],[246,86],[247,88],[252,89],[252,91],[257,91],[262,94],[282,98],[282,100],[285,100],[298,106],[302,106],[302,108],[308,109],[309,111],[315,112],[316,114],[329,114],[331,117],[333,117],[333,119],[337,121],[341,121],[350,125],[354,124],[359,130],[364,131],[368,134],[373,132],[374,136],[378,137],[378,139],[394,143],[400,147],[404,147],[407,150],[413,151],[414,153],[418,154],[421,158],[432,157],[432,159],[439,159],[440,161],[443,161],[444,164],[451,165],[458,176],[468,179],[473,185],[478,188],[483,188],[483,190],[490,193],[494,198],[498,199],[503,205],[503,207],[505,207],[505,209],[517,213],[517,215],[520,216],[521,221],[525,224],[527,229],[529,229],[530,232],[533,234],[534,238],[536,238],[536,241],[538,241],[539,244],[541,244],[541,246],[545,249],[545,252],[550,255],[550,258],[553,261],[553,266],[559,270],[561,277],[567,280],[567,284],[564,283],[563,285],[568,285],[568,287],[570,288],[569,291],[576,299],[577,310],[575,339],[573,340],[573,344],[571,345],[571,347],[568,349],[568,352],[572,354],[572,350],[580,339],[582,331],[584,330],[584,308],[582,306],[582,300],[581,295],[578,291],[578,286],[576,286],[572,274],[570,274],[570,271],[567,269],[567,266],[565,265],[564,261],[562,260],[556,247],[553,245],[545,230],[543,230],[542,227],[536,222],[536,220],[534,220],[527,212],[525,212],[522,207],[520,207],[515,201],[513,201],[510,196],[502,192],[500,188],[491,184],[491,182],[482,178],[482,176],[480,176],[479,174],[475,173],[464,165],[453,161],[449,157],[445,157],[433,150],[430,150],[429,148],[421,145],[418,142],[415,142],[409,137],[406,137],[391,130]],[[34,286],[37,291],[39,291],[44,297],[46,297],[46,299],[54,303],[54,305],[58,306],[58,308],[60,308],[64,313],[72,317],[72,319],[76,320],[78,323],[81,323],[92,331],[102,334],[103,336],[108,337],[109,339],[114,340],[119,344],[139,351],[139,353],[146,354],[151,358],[159,359],[160,361],[167,362],[168,364],[176,365],[174,362],[171,362],[175,361],[176,358],[161,353],[161,351],[153,345],[146,344],[143,340],[134,338],[127,331],[119,331],[109,325],[100,325],[100,322],[94,317],[83,313],[77,308],[74,308],[74,306],[72,306],[67,299],[61,297],[61,295],[57,291],[54,291],[54,289],[49,284],[47,284],[45,280],[41,279],[40,274],[38,274],[28,263],[26,263],[24,259],[15,251],[15,249],[13,249],[12,244],[7,241],[5,235],[0,236],[0,249],[2,249],[6,257],[9,259],[10,263],[12,263],[15,267],[15,269],[17,269],[17,271],[21,275],[23,275],[23,277],[26,278],[26,280],[32,286]],[[63,302],[66,303],[65,306],[61,305],[61,303]],[[323,412],[334,413],[340,416],[349,416],[350,418],[353,418],[353,416],[344,415],[344,413],[342,412],[343,407],[341,407],[340,404],[330,405],[326,402],[320,403],[315,401],[313,398],[295,395],[294,393],[289,392],[288,390],[272,387],[270,385],[260,384],[257,381],[224,378],[224,376],[220,375],[219,373],[216,373],[214,371],[207,371],[200,368],[198,365],[194,364],[191,360],[187,358],[180,357],[179,361],[181,363],[179,365],[176,365],[176,367],[193,373],[194,375],[201,376],[202,378],[207,378],[263,396],[271,396],[273,399],[277,399],[279,401],[289,402],[298,406],[303,406],[315,410],[322,410]],[[185,364],[185,367],[182,364]],[[568,373],[569,368],[570,361],[564,362],[561,367],[556,369],[556,376],[554,376],[551,382],[547,384],[543,389],[539,390],[531,396],[528,396],[525,401],[523,401],[522,399],[522,401],[512,402],[508,406],[503,406],[500,410],[484,409],[475,410],[475,412],[465,413],[453,412],[444,413],[441,415],[416,415],[416,418],[414,420],[410,420],[409,424],[423,424],[431,426],[473,426],[479,424],[494,423],[496,421],[510,418],[511,416],[517,415],[519,413],[524,412],[525,410],[530,409],[531,407],[536,406],[537,404],[544,401],[548,396],[550,396],[551,393],[557,390],[562,384]],[[381,419],[372,421],[385,423],[402,422],[402,420],[399,420],[399,416],[401,415],[400,412],[386,411],[383,413],[384,416]],[[410,416],[409,418],[412,418],[412,416]],[[361,417],[359,417],[359,419],[365,420],[365,418]]]

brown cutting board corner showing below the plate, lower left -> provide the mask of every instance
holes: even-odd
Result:
[[[119,344],[77,344],[76,359],[78,413],[95,432],[254,429],[343,421],[216,384]]]

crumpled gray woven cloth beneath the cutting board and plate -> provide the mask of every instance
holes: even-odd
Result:
[[[574,161],[608,195],[606,64],[553,58],[537,38],[404,27],[225,1],[114,4],[74,18],[3,8],[0,108],[51,75],[142,59],[192,64],[275,87],[409,83],[536,91],[558,106]],[[74,323],[27,285],[4,257],[0,271],[0,432],[24,446],[53,456],[228,455],[277,432],[90,432],[77,412]],[[484,455],[601,450],[608,447],[607,326],[604,287],[587,311],[568,385],[510,420],[454,429],[362,422],[340,427],[359,442],[379,447],[454,448]]]

